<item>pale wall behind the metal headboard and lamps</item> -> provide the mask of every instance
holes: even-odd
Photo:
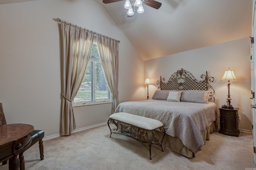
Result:
[[[239,129],[251,131],[249,37],[145,61],[145,77],[148,76],[152,83],[149,86],[150,98],[152,98],[154,90],[158,88],[156,81],[160,80],[160,75],[167,81],[174,72],[183,68],[200,79],[200,75],[205,74],[207,70],[208,75],[213,76],[216,80],[212,83],[212,87],[215,89],[215,102],[218,107],[221,107],[226,104],[228,89],[227,82],[222,82],[220,79],[228,67],[234,70],[238,79],[238,81],[231,82],[230,95],[232,106],[238,107],[238,113],[241,115]]]

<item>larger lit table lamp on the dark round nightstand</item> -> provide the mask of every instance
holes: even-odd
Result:
[[[230,81],[237,81],[236,76],[234,74],[233,70],[230,70],[228,68],[228,70],[225,71],[223,77],[221,78],[220,81],[228,81],[227,83],[227,87],[228,87],[228,98],[227,98],[227,104],[223,105],[222,108],[226,108],[226,109],[234,109],[234,107],[230,104],[230,100],[232,100],[230,98],[230,94],[229,94],[229,89],[230,89]]]

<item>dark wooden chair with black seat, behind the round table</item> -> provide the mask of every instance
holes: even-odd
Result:
[[[5,125],[6,124],[6,119],[5,119],[5,116],[4,116],[4,109],[3,109],[3,106],[2,106],[2,103],[0,103],[0,125]],[[40,151],[40,160],[44,160],[44,145],[43,145],[43,137],[44,137],[44,131],[42,130],[34,130],[31,135],[31,144],[30,144],[30,147],[32,145],[34,145],[35,143],[39,143],[39,151]],[[28,148],[30,148],[28,147]],[[27,148],[27,149],[28,149]],[[27,150],[26,149],[26,150]],[[26,150],[24,150],[23,152],[25,152]],[[25,170],[25,166],[24,166],[24,155],[23,155],[23,152],[19,154],[19,159],[20,159],[20,170]],[[2,162],[2,164],[7,164],[7,160]]]

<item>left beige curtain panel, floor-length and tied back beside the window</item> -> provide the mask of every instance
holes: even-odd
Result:
[[[61,135],[76,128],[72,101],[82,84],[92,51],[94,34],[60,23],[61,31]]]

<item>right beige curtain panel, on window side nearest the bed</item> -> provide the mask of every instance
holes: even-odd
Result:
[[[100,60],[106,77],[106,82],[113,97],[112,111],[114,113],[118,101],[118,42],[96,35]]]

